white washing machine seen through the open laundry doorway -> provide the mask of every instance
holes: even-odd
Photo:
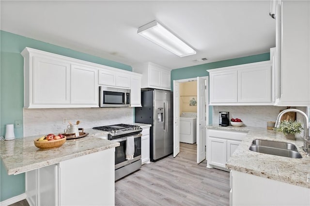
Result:
[[[182,112],[180,116],[180,142],[194,144],[196,142],[197,113]]]

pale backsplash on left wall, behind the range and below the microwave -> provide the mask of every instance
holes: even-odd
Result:
[[[24,109],[24,136],[52,132],[63,132],[67,118],[75,124],[80,120],[79,128],[93,128],[119,123],[133,123],[133,108],[63,108],[63,109]]]

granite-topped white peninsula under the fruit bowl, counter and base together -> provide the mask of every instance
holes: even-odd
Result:
[[[8,175],[26,173],[30,205],[114,205],[114,151],[120,144],[84,130],[86,137],[62,147],[39,149],[39,136],[1,141],[1,159]]]

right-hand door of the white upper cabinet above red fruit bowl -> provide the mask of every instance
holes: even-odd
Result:
[[[238,70],[238,103],[271,103],[271,64]]]

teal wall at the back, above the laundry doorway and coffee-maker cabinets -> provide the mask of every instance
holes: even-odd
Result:
[[[223,61],[211,62],[207,64],[201,64],[197,66],[174,69],[171,71],[171,88],[172,88],[171,90],[173,90],[173,80],[189,79],[197,76],[209,76],[209,73],[206,71],[209,69],[216,69],[239,64],[248,64],[253,62],[266,61],[269,59],[270,59],[270,53],[264,53],[237,59],[228,59]],[[209,106],[209,124],[212,124],[212,115],[213,115],[212,106]]]

